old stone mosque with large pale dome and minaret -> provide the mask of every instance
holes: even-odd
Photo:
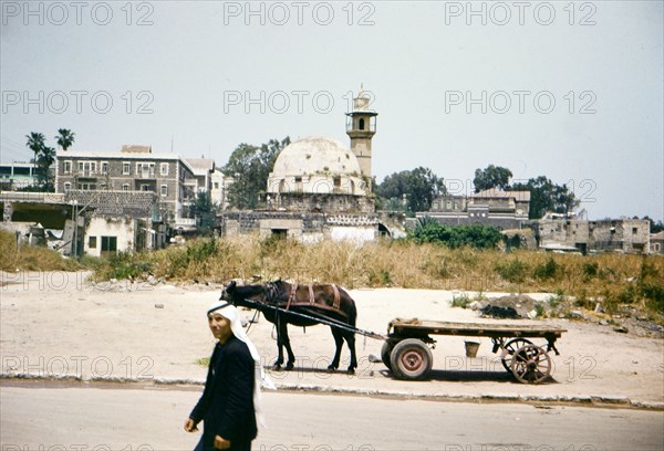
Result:
[[[374,240],[380,226],[371,193],[371,140],[377,113],[360,92],[347,116],[350,148],[324,137],[291,143],[268,177],[267,209],[224,212],[219,228],[226,234],[259,231],[305,242]]]

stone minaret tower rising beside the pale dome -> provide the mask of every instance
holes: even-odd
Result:
[[[369,108],[370,97],[360,88],[353,98],[353,111],[346,113],[346,134],[351,137],[351,150],[357,157],[362,177],[371,182],[371,139],[376,134],[376,112]]]

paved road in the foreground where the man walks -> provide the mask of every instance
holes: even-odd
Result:
[[[0,384],[2,451],[190,450],[200,388]],[[264,394],[260,451],[664,449],[664,412]]]

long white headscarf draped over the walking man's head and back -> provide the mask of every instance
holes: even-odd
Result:
[[[261,386],[274,390],[274,382],[267,376],[263,371],[262,365],[260,363],[260,354],[258,354],[258,349],[253,346],[253,343],[247,336],[247,333],[242,328],[242,322],[240,321],[240,313],[236,308],[235,305],[227,303],[226,301],[217,301],[210,305],[207,312],[208,315],[221,315],[228,321],[230,321],[230,331],[232,335],[240,342],[243,342],[249,348],[249,353],[251,354],[251,358],[255,361],[255,384],[253,384],[253,410],[256,411],[256,422],[261,427],[266,427],[266,421],[262,416],[262,407],[261,407]]]

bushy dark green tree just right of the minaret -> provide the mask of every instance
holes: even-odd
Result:
[[[417,167],[385,177],[375,192],[383,198],[382,204],[397,207],[403,204],[405,195],[405,211],[414,213],[428,211],[434,199],[444,195],[446,189],[443,177],[436,176],[429,168]]]

